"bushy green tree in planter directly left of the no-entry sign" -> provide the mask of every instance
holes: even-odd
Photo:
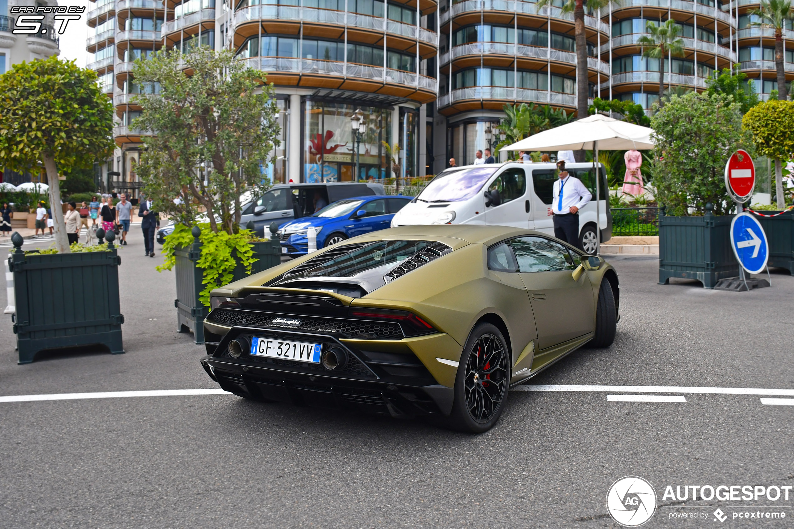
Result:
[[[725,94],[673,96],[651,117],[657,158],[653,161],[656,197],[672,215],[703,214],[707,202],[717,215],[733,207],[723,172],[737,148],[754,151],[742,129],[740,105]]]

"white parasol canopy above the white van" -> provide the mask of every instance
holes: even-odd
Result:
[[[652,149],[653,129],[595,114],[579,121],[538,132],[502,151],[599,151]]]

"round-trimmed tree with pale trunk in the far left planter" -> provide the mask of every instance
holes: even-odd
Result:
[[[0,75],[0,167],[44,166],[58,251],[69,252],[58,172],[113,152],[113,104],[94,71],[56,56],[17,63]]]

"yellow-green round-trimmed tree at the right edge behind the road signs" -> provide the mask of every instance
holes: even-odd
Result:
[[[784,209],[783,167],[794,152],[794,102],[770,100],[758,103],[742,118],[742,125],[753,133],[758,154],[775,160],[777,207]]]

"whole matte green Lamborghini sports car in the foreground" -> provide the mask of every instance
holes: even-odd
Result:
[[[257,401],[499,419],[511,385],[615,339],[615,269],[504,226],[358,236],[215,289],[207,374]]]

